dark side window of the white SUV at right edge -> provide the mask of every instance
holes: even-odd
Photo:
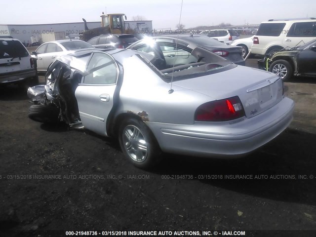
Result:
[[[316,37],[316,22],[294,23],[289,29],[287,37]]]

